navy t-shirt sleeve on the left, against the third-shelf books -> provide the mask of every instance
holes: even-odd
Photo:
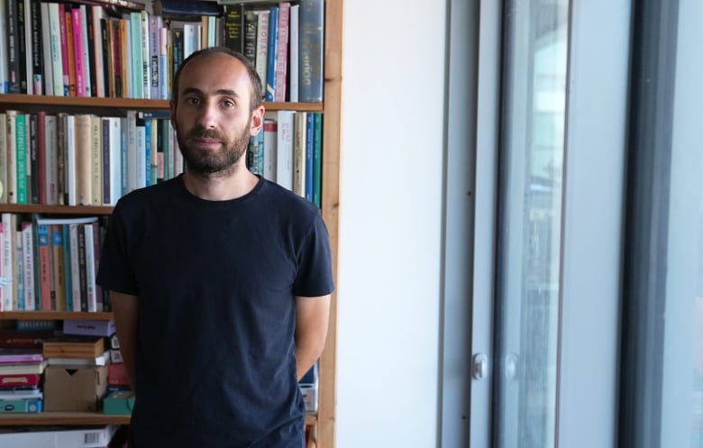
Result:
[[[96,283],[105,290],[137,296],[139,288],[129,261],[127,244],[122,208],[118,204],[107,224]]]

